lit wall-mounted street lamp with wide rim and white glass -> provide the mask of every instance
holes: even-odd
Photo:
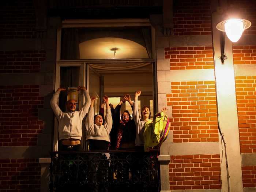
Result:
[[[232,18],[224,20],[216,26],[219,31],[226,32],[232,42],[237,42],[245,29],[251,27],[252,23],[246,19]]]

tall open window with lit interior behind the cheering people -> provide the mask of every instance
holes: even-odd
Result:
[[[90,96],[98,98],[95,114],[103,95],[115,107],[126,93],[133,100],[137,90],[142,91],[139,108],[150,106],[151,118],[158,110],[155,32],[148,19],[64,20],[57,32],[56,57],[55,90],[85,86]],[[65,98],[60,97],[62,110]],[[78,108],[83,103],[80,96]],[[131,112],[127,102],[121,111],[125,109]],[[54,151],[58,148],[57,126],[55,119]]]

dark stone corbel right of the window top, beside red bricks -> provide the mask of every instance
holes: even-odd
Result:
[[[163,35],[173,35],[173,0],[163,0]]]

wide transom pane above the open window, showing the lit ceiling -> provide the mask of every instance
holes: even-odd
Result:
[[[151,27],[63,28],[61,60],[151,58]]]

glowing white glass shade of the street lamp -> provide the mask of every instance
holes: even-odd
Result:
[[[244,23],[240,19],[229,19],[224,24],[227,37],[232,42],[237,42],[244,31]]]

